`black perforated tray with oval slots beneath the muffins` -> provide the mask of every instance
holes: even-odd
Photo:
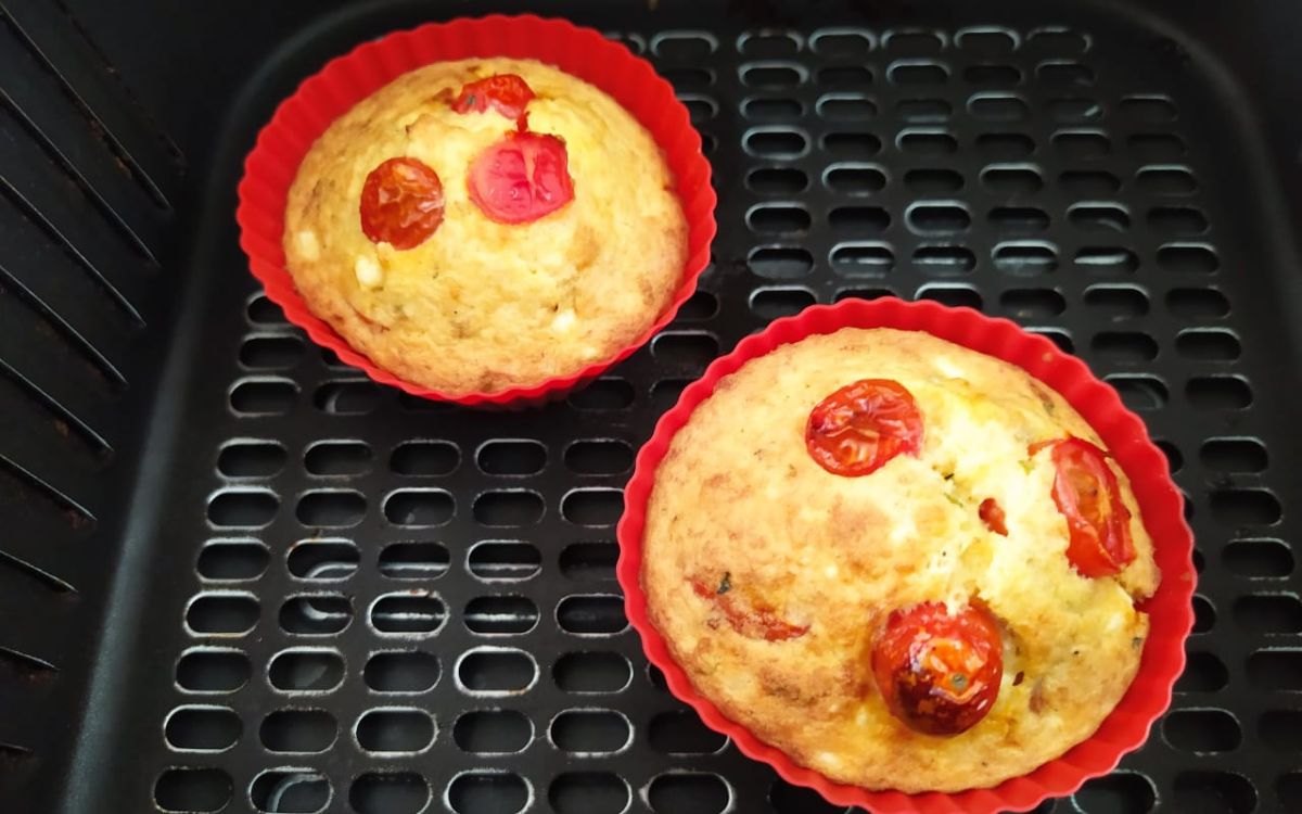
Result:
[[[711,358],[806,305],[884,294],[1079,354],[1191,499],[1203,581],[1173,711],[1040,810],[1302,810],[1294,496],[1272,491],[1292,488],[1286,382],[1273,328],[1240,316],[1263,293],[1228,231],[1236,156],[1203,146],[1216,109],[1180,56],[1057,27],[622,39],[704,135],[716,264],[650,349],[566,402],[471,413],[378,388],[250,294],[223,244],[221,290],[189,311],[198,382],[124,810],[833,810],[648,673],[613,524],[634,451]]]

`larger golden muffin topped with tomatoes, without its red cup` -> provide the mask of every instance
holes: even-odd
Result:
[[[999,784],[1138,671],[1159,572],[1129,481],[1003,361],[887,328],[783,345],[654,478],[651,623],[700,695],[832,780]]]

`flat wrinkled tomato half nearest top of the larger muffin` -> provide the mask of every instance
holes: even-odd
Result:
[[[922,448],[922,413],[902,384],[861,379],[814,408],[805,447],[833,475],[867,475],[887,461]]]

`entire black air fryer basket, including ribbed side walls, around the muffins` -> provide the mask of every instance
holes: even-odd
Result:
[[[711,358],[884,294],[1081,356],[1189,496],[1172,710],[1039,810],[1302,810],[1302,16],[1048,5],[0,0],[0,811],[838,810],[648,671],[613,524]],[[521,413],[339,365],[233,220],[298,81],[492,10],[650,59],[720,195],[674,323]]]

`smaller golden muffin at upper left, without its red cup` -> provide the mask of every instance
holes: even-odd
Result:
[[[309,309],[449,396],[575,374],[673,298],[687,227],[638,121],[531,60],[436,63],[340,116],[298,167],[286,268]]]

